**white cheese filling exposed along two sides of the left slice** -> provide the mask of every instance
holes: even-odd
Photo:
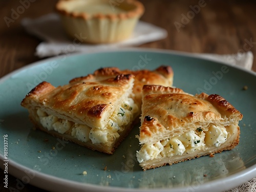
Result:
[[[130,123],[136,112],[138,112],[138,106],[132,98],[129,98],[112,114],[105,127],[98,129],[57,118],[40,109],[36,111],[41,125],[48,131],[69,134],[82,142],[91,141],[93,144],[102,143],[108,146],[120,137],[119,134],[124,131],[125,126]]]

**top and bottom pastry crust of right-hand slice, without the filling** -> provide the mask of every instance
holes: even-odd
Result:
[[[150,159],[140,165],[143,169],[149,169],[231,150],[239,143],[238,122],[242,117],[228,101],[216,94],[201,93],[194,96],[178,88],[145,85],[142,90],[139,135],[142,146],[182,136],[196,131],[198,127],[206,133],[211,125],[225,127],[228,136],[220,147],[208,146],[191,154]]]

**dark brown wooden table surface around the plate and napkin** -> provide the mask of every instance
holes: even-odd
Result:
[[[145,6],[141,20],[168,31],[167,38],[139,46],[141,48],[217,54],[251,51],[254,57],[256,55],[256,1],[141,2]],[[55,3],[56,0],[0,0],[0,77],[41,59],[34,55],[41,40],[28,34],[20,21],[24,17],[36,18],[54,12]],[[196,9],[198,7],[200,10]],[[15,15],[14,11],[20,14]],[[184,15],[189,18],[185,19]],[[256,71],[255,59],[253,71]],[[0,175],[4,177],[3,171]],[[16,178],[9,175],[8,185],[17,189]],[[4,188],[2,181],[0,186],[0,191],[9,191]],[[12,191],[45,190],[25,184],[22,189]]]

